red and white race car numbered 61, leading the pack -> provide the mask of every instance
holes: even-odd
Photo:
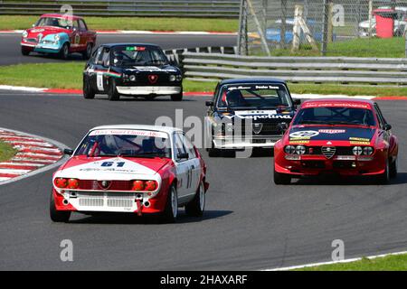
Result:
[[[92,128],[52,177],[50,216],[72,211],[159,214],[175,221],[178,207],[202,216],[206,165],[182,130],[168,126]]]

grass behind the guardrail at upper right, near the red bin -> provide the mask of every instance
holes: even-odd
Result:
[[[254,54],[259,55],[260,52],[254,52]],[[273,56],[321,56],[320,51],[312,51],[308,45],[303,45],[294,53],[290,49],[276,49],[271,51],[271,54]],[[402,37],[359,38],[332,42],[327,47],[327,56],[404,58],[405,42]]]

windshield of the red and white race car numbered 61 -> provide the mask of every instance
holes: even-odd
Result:
[[[171,144],[163,132],[103,129],[91,131],[75,155],[169,158]]]

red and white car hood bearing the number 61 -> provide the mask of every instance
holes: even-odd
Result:
[[[73,156],[54,177],[128,181],[137,177],[154,176],[169,162],[171,160],[168,158]]]

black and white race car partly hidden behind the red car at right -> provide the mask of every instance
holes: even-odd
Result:
[[[284,135],[299,99],[280,79],[228,79],[215,89],[205,117],[210,156],[222,150],[267,148]]]

